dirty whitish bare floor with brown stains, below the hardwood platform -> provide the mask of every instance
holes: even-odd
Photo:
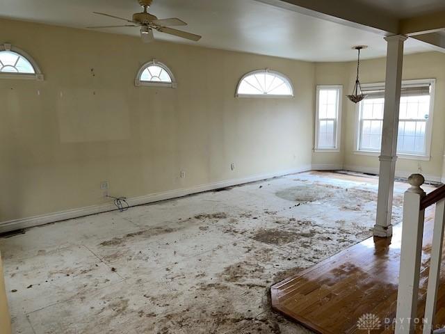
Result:
[[[14,333],[309,333],[268,288],[369,237],[377,184],[300,173],[0,239]]]

